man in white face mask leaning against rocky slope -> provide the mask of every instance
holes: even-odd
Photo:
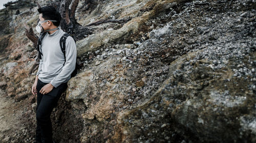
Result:
[[[69,36],[66,39],[66,60],[60,48],[60,38],[65,34],[58,28],[61,16],[52,6],[37,9],[39,23],[37,32],[46,33],[41,41],[41,60],[32,86],[37,94],[36,142],[52,143],[51,112],[61,94],[67,89],[67,82],[76,65],[76,45]]]

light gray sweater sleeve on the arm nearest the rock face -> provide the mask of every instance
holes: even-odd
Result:
[[[57,88],[61,83],[65,82],[70,78],[71,73],[75,70],[76,67],[76,43],[74,39],[69,36],[66,39],[66,63],[63,66],[61,72],[55,76],[51,84],[53,87]]]

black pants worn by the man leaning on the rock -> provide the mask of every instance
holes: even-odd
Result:
[[[52,143],[52,122],[51,113],[61,94],[67,89],[67,83],[60,84],[57,88],[45,95],[39,93],[42,87],[48,83],[44,83],[38,79],[37,90],[37,107],[36,107],[36,141],[43,143]]]

